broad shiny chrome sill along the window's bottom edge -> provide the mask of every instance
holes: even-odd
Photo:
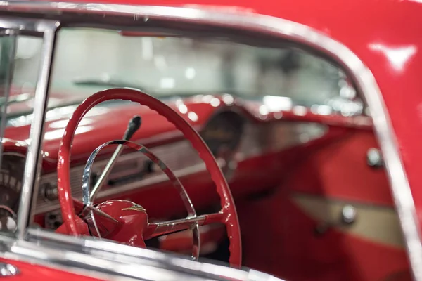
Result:
[[[62,266],[65,270],[75,270],[75,267],[95,270],[100,276],[114,273],[113,280],[120,276],[140,280],[280,280],[255,270],[191,261],[175,254],[95,240],[93,237],[82,240],[34,228],[28,229],[28,234],[30,242],[18,241],[14,244],[9,258],[13,256],[14,259],[32,260],[45,266]],[[34,239],[38,244],[31,242]],[[44,249],[42,252],[40,247]],[[71,251],[66,251],[69,248]],[[64,251],[67,259],[63,259]],[[162,274],[164,272],[166,275]]]

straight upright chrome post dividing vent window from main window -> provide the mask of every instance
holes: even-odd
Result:
[[[23,176],[22,194],[20,197],[20,208],[18,212],[17,237],[20,240],[25,238],[25,230],[30,219],[30,207],[33,190],[37,190],[37,175],[41,165],[41,145],[44,139],[44,119],[49,98],[49,81],[51,77],[51,63],[53,60],[53,49],[56,41],[57,22],[48,22],[44,31],[44,44],[41,48],[41,62],[37,88],[34,97],[34,119],[30,129],[30,145],[27,150],[27,161]],[[37,195],[34,195],[37,196]]]

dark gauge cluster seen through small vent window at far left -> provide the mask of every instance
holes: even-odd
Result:
[[[25,158],[4,155],[0,169],[0,231],[14,232],[22,190]]]

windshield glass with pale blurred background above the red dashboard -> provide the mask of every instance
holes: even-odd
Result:
[[[80,103],[111,87],[141,89],[157,98],[231,93],[286,97],[285,105],[328,105],[343,115],[362,112],[345,74],[326,60],[292,48],[263,48],[224,39],[155,37],[72,28],[58,33],[50,107]],[[39,44],[19,38],[13,88],[30,93],[37,80]],[[13,107],[19,113],[27,96]],[[335,100],[354,100],[335,108]],[[334,102],[333,102],[334,101]],[[337,103],[338,105],[338,103]],[[281,110],[289,108],[281,107]],[[12,112],[13,113],[13,112]]]

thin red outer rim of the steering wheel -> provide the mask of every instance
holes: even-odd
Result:
[[[75,110],[70,118],[68,125],[63,133],[62,141],[58,151],[58,199],[60,202],[60,209],[62,211],[65,228],[67,228],[70,235],[78,236],[79,228],[77,227],[75,207],[72,202],[72,194],[70,187],[70,149],[72,141],[75,136],[75,131],[82,118],[91,110],[92,107],[102,103],[106,100],[130,100],[140,105],[146,105],[151,110],[154,110],[159,115],[165,117],[169,122],[174,124],[184,137],[191,143],[193,148],[198,152],[198,155],[205,162],[207,170],[210,172],[212,181],[215,183],[217,193],[220,197],[220,204],[222,206],[222,213],[224,216],[224,223],[226,225],[227,235],[229,237],[229,263],[231,266],[241,266],[241,234],[238,223],[238,216],[231,191],[219,168],[215,157],[212,155],[210,149],[207,147],[203,138],[198,132],[186,122],[177,112],[171,107],[162,103],[160,100],[153,98],[142,91],[115,88],[94,93],[86,100],[84,100]]]

